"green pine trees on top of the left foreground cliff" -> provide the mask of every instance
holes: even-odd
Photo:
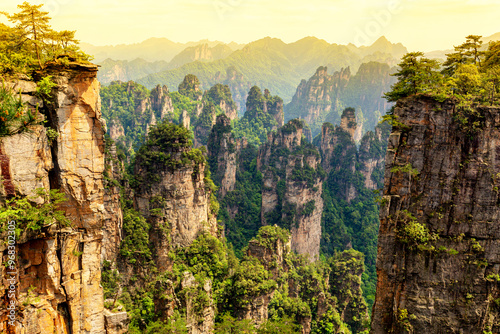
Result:
[[[0,24],[0,73],[31,75],[49,61],[64,57],[79,62],[91,59],[79,49],[75,31],[55,31],[50,27],[49,13],[41,10],[43,5],[24,2],[17,7],[18,13],[0,13],[13,24]]]

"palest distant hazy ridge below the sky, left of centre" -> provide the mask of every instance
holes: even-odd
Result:
[[[97,63],[110,58],[113,60],[134,60],[142,58],[146,61],[167,61],[170,62],[176,55],[188,47],[207,44],[209,47],[215,47],[224,44],[219,41],[201,40],[198,42],[176,43],[166,38],[150,38],[141,43],[95,46],[92,44],[81,43],[80,47],[88,54],[93,55]],[[237,50],[243,45],[237,43],[227,44],[232,50]]]

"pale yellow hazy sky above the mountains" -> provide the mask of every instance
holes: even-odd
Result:
[[[19,0],[1,0],[12,13]],[[77,30],[95,45],[150,37],[247,43],[265,36],[293,42],[371,44],[381,35],[410,50],[451,48],[469,34],[500,32],[500,0],[31,0],[44,3],[55,29]]]

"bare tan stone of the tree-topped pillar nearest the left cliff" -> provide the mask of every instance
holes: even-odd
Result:
[[[173,152],[179,158],[181,152]],[[196,171],[195,171],[196,170]],[[136,175],[146,173],[136,165]],[[170,268],[172,247],[189,246],[206,231],[217,235],[217,220],[210,206],[211,192],[205,184],[205,164],[187,163],[175,169],[164,165],[156,170],[159,182],[142,185],[135,192],[135,206],[152,224],[150,238],[156,247],[159,270]],[[159,212],[153,212],[156,209]]]

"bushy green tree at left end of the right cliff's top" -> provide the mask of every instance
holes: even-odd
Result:
[[[393,75],[398,82],[390,92],[384,94],[389,102],[400,98],[432,91],[439,82],[439,63],[435,60],[424,58],[422,52],[410,52],[403,56],[399,63],[399,70]]]

